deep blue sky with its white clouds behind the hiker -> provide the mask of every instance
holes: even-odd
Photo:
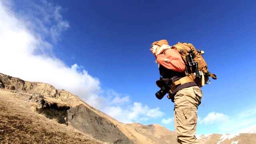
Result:
[[[202,88],[197,134],[256,124],[254,0],[0,0],[0,72],[45,82],[117,120],[174,131],[158,100],[152,42],[190,42],[218,76]]]

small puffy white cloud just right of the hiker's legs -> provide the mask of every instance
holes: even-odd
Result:
[[[217,112],[211,112],[205,118],[202,120],[199,119],[198,121],[200,124],[213,124],[216,122],[225,122],[227,120],[229,120],[229,116]]]

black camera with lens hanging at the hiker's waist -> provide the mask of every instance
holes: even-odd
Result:
[[[169,93],[170,87],[164,82],[162,78],[156,81],[156,85],[161,88],[158,92],[156,92],[156,98],[161,100],[167,93]]]

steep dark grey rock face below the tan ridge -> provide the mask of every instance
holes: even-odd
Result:
[[[133,144],[112,122],[80,104],[68,111],[68,122],[77,130],[114,144]]]

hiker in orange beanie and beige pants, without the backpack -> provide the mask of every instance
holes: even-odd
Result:
[[[195,136],[197,109],[202,98],[202,90],[191,78],[186,76],[182,57],[177,50],[168,45],[167,40],[154,42],[150,51],[155,55],[160,71],[160,80],[156,81],[156,84],[161,90],[156,93],[156,97],[162,99],[166,93],[169,93],[168,98],[172,99],[175,104],[176,140],[180,144],[204,144]],[[178,84],[173,86],[174,82],[178,82]]]

